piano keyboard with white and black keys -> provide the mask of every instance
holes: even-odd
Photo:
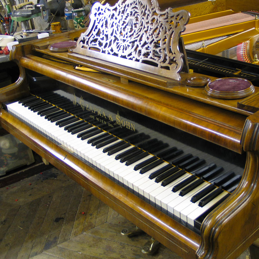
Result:
[[[233,171],[222,174],[222,166],[208,163],[199,154],[170,147],[154,136],[149,139],[147,130],[110,130],[102,122],[93,125],[91,112],[71,101],[66,103],[65,97],[45,95],[6,107],[30,127],[197,233],[203,218],[240,181],[241,175]]]

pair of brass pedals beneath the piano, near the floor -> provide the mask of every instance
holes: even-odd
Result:
[[[132,228],[124,228],[122,231],[121,231],[121,234],[124,235],[124,236],[128,236],[129,238],[132,237],[132,236],[137,236],[137,235],[141,235],[145,233],[143,230],[141,230],[139,227],[135,226],[135,227],[132,227]],[[159,242],[154,239],[154,238],[151,238],[150,240],[148,240],[146,242],[146,244],[142,247],[141,251],[142,253],[144,254],[154,254],[157,249],[159,248]]]

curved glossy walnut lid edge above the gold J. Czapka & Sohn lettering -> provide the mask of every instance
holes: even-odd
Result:
[[[107,84],[107,81],[102,80],[104,76],[101,74],[91,73],[90,76],[83,76],[82,71],[71,70],[69,65],[61,65],[35,56],[22,57],[20,63],[28,69],[36,70],[236,152],[242,152],[240,137],[246,116],[223,112],[220,108],[181,96],[169,96],[166,92],[145,85],[122,84],[118,78],[117,84]],[[50,65],[53,69],[49,69]],[[105,75],[105,78],[107,77],[109,76]]]

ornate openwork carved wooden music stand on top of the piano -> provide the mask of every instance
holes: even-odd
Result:
[[[95,3],[90,19],[73,52],[179,80],[178,42],[189,12],[161,11],[157,0],[120,0]]]

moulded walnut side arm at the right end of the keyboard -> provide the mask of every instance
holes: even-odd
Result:
[[[197,251],[199,259],[219,258],[219,254],[224,255],[222,259],[236,258],[259,237],[258,123],[258,112],[247,118],[241,138],[247,151],[243,177],[232,195],[204,220],[202,245]]]

